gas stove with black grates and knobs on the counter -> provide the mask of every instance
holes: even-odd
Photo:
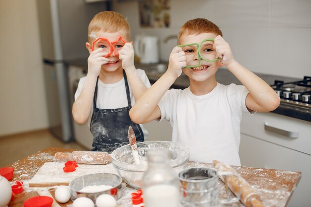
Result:
[[[295,82],[275,80],[271,87],[280,96],[281,104],[311,109],[311,76]]]

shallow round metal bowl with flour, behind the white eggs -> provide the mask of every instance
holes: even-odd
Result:
[[[87,197],[95,203],[97,197],[102,194],[109,194],[113,196],[116,200],[118,200],[122,196],[121,182],[122,178],[119,175],[112,173],[95,173],[95,174],[82,175],[74,179],[72,182],[70,182],[69,187],[72,192],[73,201],[78,197]],[[105,191],[100,191],[96,193],[81,192],[81,189],[83,189],[86,186],[100,186],[100,185],[112,187]]]

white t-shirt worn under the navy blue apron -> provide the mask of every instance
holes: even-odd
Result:
[[[149,88],[150,81],[145,73],[145,70],[136,69],[136,74],[142,79],[146,87]],[[78,96],[80,95],[85,80],[86,80],[86,77],[80,78],[79,83],[78,83],[78,89],[75,93],[75,100],[77,100]],[[129,84],[129,88],[130,88],[131,104],[133,106],[135,103],[135,99],[134,99],[134,95],[132,94],[130,84]],[[97,108],[117,109],[117,108],[123,108],[126,106],[128,106],[128,103],[127,103],[127,97],[126,97],[124,77],[120,81],[116,83],[112,83],[112,84],[103,83],[100,81],[100,79],[98,79],[97,100],[96,100]],[[93,113],[93,107],[92,107],[90,116],[88,118],[88,126],[90,125],[92,113]],[[144,133],[144,138],[148,139],[148,136],[149,136],[148,131],[143,127],[142,124],[140,124],[140,126]]]

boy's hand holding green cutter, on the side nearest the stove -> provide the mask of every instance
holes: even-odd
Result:
[[[222,36],[218,35],[214,39],[214,48],[216,50],[217,56],[222,59],[222,62],[225,66],[228,66],[235,61],[230,49],[230,45],[224,40]]]

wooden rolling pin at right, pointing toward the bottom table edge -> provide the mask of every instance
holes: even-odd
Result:
[[[213,164],[217,171],[219,172],[232,172],[234,175],[228,175],[227,176],[227,182],[230,190],[237,195],[238,194],[238,184],[240,184],[240,192],[241,192],[241,202],[246,207],[264,207],[263,204],[260,201],[260,197],[254,189],[239,175],[233,168],[226,164],[221,163],[217,160],[213,160]],[[224,182],[223,176],[219,176],[220,179]]]

